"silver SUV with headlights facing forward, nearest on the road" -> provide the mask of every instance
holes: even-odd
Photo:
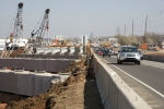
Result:
[[[134,62],[134,64],[140,65],[141,57],[137,49],[133,46],[122,46],[118,50],[117,63],[121,64],[122,62]]]

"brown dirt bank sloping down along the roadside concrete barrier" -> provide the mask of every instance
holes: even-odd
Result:
[[[5,109],[104,109],[94,71],[85,61],[72,63],[66,71],[72,75],[55,83],[46,94],[21,101],[10,101]]]

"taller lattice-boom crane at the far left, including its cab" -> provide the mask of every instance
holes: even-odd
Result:
[[[17,4],[17,13],[14,22],[14,29],[13,33],[10,35],[10,41],[7,41],[5,39],[5,50],[2,52],[1,57],[9,57],[10,53],[12,53],[13,50],[19,49],[17,39],[21,38],[23,33],[23,24],[22,24],[22,11],[23,11],[23,3],[20,2]]]

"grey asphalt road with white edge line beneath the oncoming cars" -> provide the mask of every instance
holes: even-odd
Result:
[[[99,57],[108,64],[152,109],[164,109],[164,63],[143,60],[117,64],[116,56]]]

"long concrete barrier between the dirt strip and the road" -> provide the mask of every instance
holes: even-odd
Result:
[[[109,66],[94,55],[94,72],[105,109],[151,109]]]

